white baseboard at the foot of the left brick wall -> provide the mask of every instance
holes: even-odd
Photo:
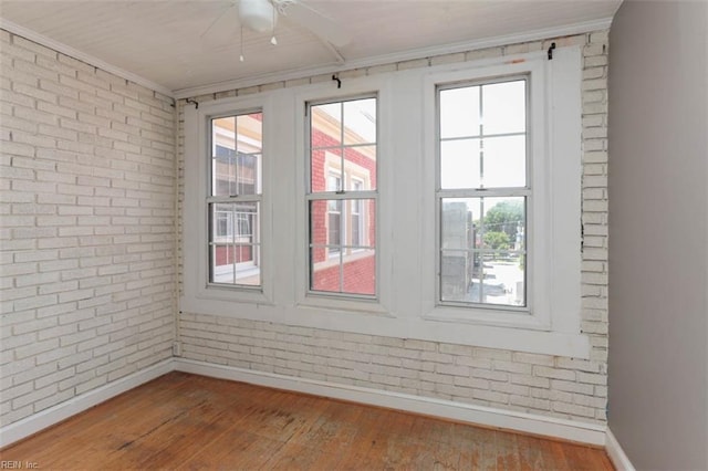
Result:
[[[93,406],[173,371],[174,369],[174,359],[168,358],[140,371],[128,375],[125,378],[117,379],[30,417],[18,420],[9,426],[2,427],[0,428],[0,448],[14,443],[15,441],[37,433],[40,430],[59,423],[71,416],[83,412]]]

